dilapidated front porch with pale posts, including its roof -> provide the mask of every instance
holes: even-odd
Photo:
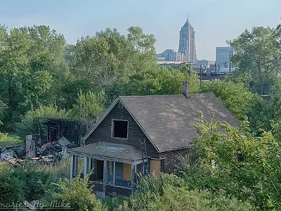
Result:
[[[141,151],[133,146],[98,142],[69,150],[70,180],[80,173],[79,159],[84,160],[83,175],[89,174],[97,196],[129,196],[135,191],[136,173],[143,174]]]

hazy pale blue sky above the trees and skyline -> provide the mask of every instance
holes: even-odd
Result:
[[[188,12],[197,58],[214,60],[215,47],[226,46],[226,39],[246,28],[281,23],[281,0],[0,0],[0,23],[10,28],[49,25],[74,44],[107,27],[126,34],[130,26],[139,26],[155,34],[157,53],[177,51]]]

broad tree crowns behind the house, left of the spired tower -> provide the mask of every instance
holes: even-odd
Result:
[[[144,34],[140,27],[130,27],[128,31],[125,36],[117,29],[107,28],[94,37],[78,40],[72,49],[73,74],[91,81],[93,87],[100,90],[115,86],[134,72],[157,65],[155,38]]]

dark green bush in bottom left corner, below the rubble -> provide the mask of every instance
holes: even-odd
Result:
[[[56,176],[47,167],[37,167],[27,162],[20,167],[1,165],[0,202],[39,200],[55,187],[53,182],[57,179]]]

